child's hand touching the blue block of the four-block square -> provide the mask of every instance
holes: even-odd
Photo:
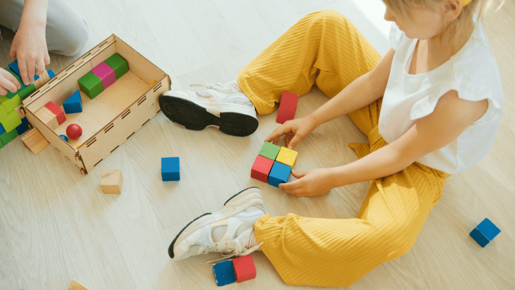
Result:
[[[280,183],[279,188],[294,197],[317,197],[333,189],[329,170],[327,168],[312,169],[297,172],[291,169],[291,175],[296,181]]]

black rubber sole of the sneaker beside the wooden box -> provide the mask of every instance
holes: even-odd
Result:
[[[160,95],[159,107],[170,121],[186,129],[200,131],[209,125],[216,125],[221,132],[245,137],[258,129],[258,119],[236,112],[222,112],[220,118],[191,101],[176,96]]]

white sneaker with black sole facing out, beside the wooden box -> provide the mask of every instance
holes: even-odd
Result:
[[[233,136],[248,136],[258,128],[254,105],[244,93],[221,84],[192,84],[201,91],[167,91],[159,96],[163,114],[190,130],[216,126]]]

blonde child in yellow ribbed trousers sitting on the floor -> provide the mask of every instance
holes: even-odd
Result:
[[[244,255],[260,249],[287,284],[350,286],[410,250],[445,179],[490,150],[504,96],[485,30],[479,20],[474,22],[473,11],[477,5],[483,9],[486,1],[383,1],[385,19],[394,23],[392,47],[382,58],[343,15],[319,11],[255,58],[237,83],[197,95],[170,91],[160,98],[164,114],[174,121],[197,122],[198,129],[221,120],[220,130],[244,135],[251,128],[232,131],[236,121],[232,125],[227,118],[224,124],[222,112],[232,110],[247,121],[255,115],[237,112],[237,103],[224,104],[224,97],[237,96],[243,103],[247,96],[259,114],[267,114],[283,90],[302,95],[316,81],[331,99],[312,114],[285,122],[266,141],[277,143],[289,134],[288,146],[294,148],[318,125],[348,114],[369,145],[350,145],[361,158],[351,164],[292,170],[298,180],[280,188],[295,197],[314,197],[371,180],[358,216],[271,217],[260,190],[248,188],[219,212],[186,225],[171,243],[170,257]],[[202,112],[204,105],[212,106]],[[196,121],[187,118],[192,111]],[[199,118],[208,114],[216,119]]]

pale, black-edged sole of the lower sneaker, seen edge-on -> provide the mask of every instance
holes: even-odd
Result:
[[[254,196],[250,197],[251,195]],[[185,238],[193,234],[198,229],[205,227],[207,224],[235,216],[241,212],[238,210],[242,207],[246,209],[256,204],[263,204],[261,189],[258,187],[249,187],[238,192],[224,203],[224,206],[220,211],[216,213],[205,213],[190,221],[186,227],[182,228],[168,247],[168,255],[171,259],[174,259],[174,246],[176,244],[180,245]]]

